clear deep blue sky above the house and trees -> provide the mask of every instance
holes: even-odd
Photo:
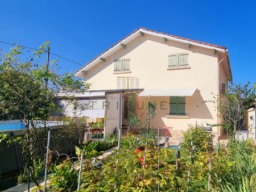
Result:
[[[84,65],[144,27],[227,47],[233,80],[245,84],[256,78],[255,7],[256,1],[1,1],[0,41],[35,48],[51,41],[51,52]],[[59,66],[81,67],[63,59]]]

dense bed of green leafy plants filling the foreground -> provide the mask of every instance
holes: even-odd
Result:
[[[192,135],[192,140],[191,140]],[[212,135],[189,127],[176,151],[158,147],[157,136],[121,139],[121,150],[99,159],[104,145],[117,145],[115,134],[105,141],[88,140],[76,149],[81,160],[68,158],[49,168],[47,191],[255,191],[256,145],[253,139],[230,140],[216,150]],[[192,141],[192,145],[191,145]],[[147,143],[147,144],[146,144]],[[108,149],[109,147],[105,148]],[[160,149],[159,149],[160,148]],[[179,151],[179,156],[177,156]],[[80,185],[78,186],[78,183]],[[43,189],[43,186],[37,189]]]

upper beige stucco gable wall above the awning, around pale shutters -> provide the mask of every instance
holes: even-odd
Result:
[[[189,53],[191,69],[167,70],[170,53]],[[114,60],[130,58],[131,73],[113,74]],[[202,87],[210,85],[217,91],[217,55],[210,49],[175,41],[164,42],[159,37],[144,35],[131,41],[106,58],[106,61],[90,69],[84,76],[90,82],[90,90],[116,89],[117,77],[139,77],[144,89],[166,89],[167,87]],[[209,83],[205,85],[205,80]]]

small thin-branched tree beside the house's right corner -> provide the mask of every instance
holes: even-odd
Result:
[[[250,87],[250,82],[241,86],[232,81],[229,82],[228,90],[220,99],[218,110],[224,123],[222,126],[233,136],[236,131],[242,130],[245,123],[245,115],[249,108],[255,106],[256,82]]]

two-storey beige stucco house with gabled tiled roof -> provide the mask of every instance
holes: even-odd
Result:
[[[205,101],[215,101],[214,96],[218,100],[232,72],[225,47],[138,28],[89,61],[75,76],[92,84],[88,93],[102,93],[96,96],[101,103],[92,105],[107,117],[108,133],[124,126],[130,112],[145,120],[144,105],[150,97],[156,104],[151,126],[172,127],[172,133],[180,135],[188,124],[222,122],[216,103]],[[96,118],[93,110],[89,113]],[[216,136],[223,131],[213,127]]]

